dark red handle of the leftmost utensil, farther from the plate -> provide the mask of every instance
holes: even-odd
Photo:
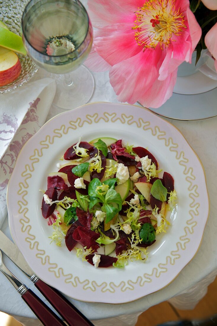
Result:
[[[37,318],[45,326],[65,326],[65,323],[54,314],[54,312],[39,299],[35,293],[28,289],[23,295],[22,299],[34,312]]]

